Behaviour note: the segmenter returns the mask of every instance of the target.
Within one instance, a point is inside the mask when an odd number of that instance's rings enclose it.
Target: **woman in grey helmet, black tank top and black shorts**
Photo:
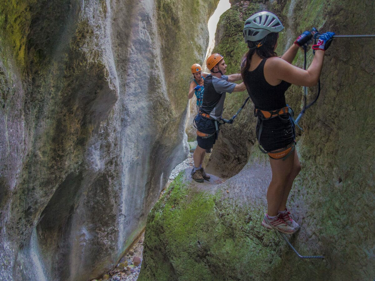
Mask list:
[[[275,52],[280,20],[270,12],[259,12],[245,21],[243,36],[249,51],[242,63],[241,74],[251,97],[257,123],[257,139],[263,152],[270,155],[272,180],[267,190],[267,214],[262,225],[284,233],[294,233],[300,226],[286,208],[293,181],[300,172],[291,110],[285,102],[285,91],[291,84],[313,86],[323,66],[324,51],[334,33],[324,33],[316,45],[314,59],[307,70],[291,64],[300,46],[312,39],[310,31],[297,37],[282,57]],[[322,40],[321,40],[322,39]]]

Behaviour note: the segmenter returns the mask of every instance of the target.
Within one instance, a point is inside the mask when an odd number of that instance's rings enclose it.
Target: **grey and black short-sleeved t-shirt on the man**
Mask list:
[[[223,114],[225,95],[226,93],[232,93],[237,84],[228,82],[228,76],[226,75],[222,75],[221,78],[211,76],[211,79],[210,76],[207,75],[204,82],[205,90],[201,110],[219,121]]]

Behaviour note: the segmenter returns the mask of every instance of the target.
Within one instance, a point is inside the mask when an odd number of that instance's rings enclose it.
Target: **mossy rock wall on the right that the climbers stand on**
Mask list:
[[[254,11],[267,9],[280,16],[285,30],[279,55],[311,27],[338,35],[374,33],[372,1],[233,2],[222,15],[214,49],[224,56],[228,73],[240,70],[246,52],[243,22]],[[325,55],[320,97],[300,122],[304,131],[297,130],[302,171],[288,206],[301,230],[289,239],[300,254],[325,259],[298,259],[277,232],[260,226],[270,168],[257,147],[250,102],[232,126],[222,127],[206,169],[230,178],[196,184],[186,170],[151,211],[139,280],[374,279],[373,45],[374,39],[333,40]],[[293,63],[303,66],[303,52]],[[308,101],[316,93],[317,87],[310,88]],[[228,94],[224,117],[231,117],[245,98],[246,93]],[[302,87],[291,87],[287,102],[298,114]]]

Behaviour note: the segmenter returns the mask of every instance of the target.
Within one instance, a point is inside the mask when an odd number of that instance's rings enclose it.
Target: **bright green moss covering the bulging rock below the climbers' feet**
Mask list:
[[[260,226],[260,214],[193,190],[182,176],[148,215],[139,280],[260,279],[270,263],[282,270],[277,234]]]

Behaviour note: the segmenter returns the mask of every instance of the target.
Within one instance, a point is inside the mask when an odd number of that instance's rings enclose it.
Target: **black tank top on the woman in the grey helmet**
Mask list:
[[[266,60],[267,58],[264,58],[253,71],[246,71],[243,80],[255,108],[272,111],[287,106],[285,91],[289,88],[290,83],[283,80],[276,86],[268,84],[264,78]]]

